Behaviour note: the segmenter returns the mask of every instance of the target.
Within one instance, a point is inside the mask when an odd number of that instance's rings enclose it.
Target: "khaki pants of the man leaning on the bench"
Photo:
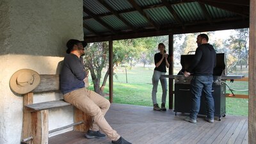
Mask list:
[[[100,129],[113,141],[120,138],[115,130],[108,124],[104,115],[107,113],[110,103],[107,99],[86,88],[80,88],[64,95],[64,100],[84,113],[92,116],[93,125],[90,128],[92,131]]]

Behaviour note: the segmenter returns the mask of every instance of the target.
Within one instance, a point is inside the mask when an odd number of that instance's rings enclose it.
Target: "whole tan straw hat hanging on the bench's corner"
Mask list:
[[[10,88],[18,94],[34,90],[40,83],[40,76],[34,70],[24,68],[15,72],[10,79]]]

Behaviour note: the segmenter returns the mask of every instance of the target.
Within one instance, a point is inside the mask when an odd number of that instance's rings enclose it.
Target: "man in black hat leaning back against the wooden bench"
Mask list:
[[[81,56],[84,56],[84,47],[86,45],[84,41],[73,39],[67,42],[67,55],[63,61],[60,79],[64,100],[92,116],[93,125],[86,132],[86,138],[102,138],[106,134],[114,144],[130,144],[113,130],[104,118],[110,106],[109,101],[98,93],[84,88],[83,80],[87,74],[84,72],[83,58]],[[100,133],[99,128],[105,134]]]

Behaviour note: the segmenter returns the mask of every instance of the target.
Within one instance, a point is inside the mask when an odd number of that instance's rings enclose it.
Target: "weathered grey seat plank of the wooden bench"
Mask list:
[[[63,100],[53,100],[49,102],[40,102],[36,104],[28,104],[26,108],[31,109],[31,111],[40,111],[44,109],[51,109],[51,108],[58,108],[63,106],[70,106],[68,102],[65,102]]]

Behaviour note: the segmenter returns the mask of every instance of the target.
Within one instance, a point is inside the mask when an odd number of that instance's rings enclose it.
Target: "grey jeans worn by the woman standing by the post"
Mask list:
[[[152,88],[152,102],[153,104],[157,104],[157,100],[156,100],[156,93],[157,93],[157,86],[158,86],[158,82],[160,79],[161,85],[162,85],[162,90],[163,90],[163,94],[162,94],[162,103],[165,104],[166,102],[166,94],[167,94],[167,81],[166,78],[161,78],[161,75],[165,74],[165,72],[159,72],[157,70],[154,70],[154,74],[152,77],[152,84],[153,84],[153,88]]]

